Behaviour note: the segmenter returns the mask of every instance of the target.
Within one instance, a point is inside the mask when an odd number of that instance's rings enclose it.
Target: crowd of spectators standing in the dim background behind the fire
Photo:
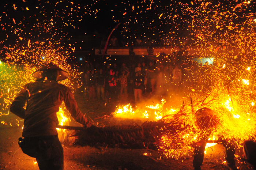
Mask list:
[[[148,97],[161,99],[211,88],[210,76],[204,75],[211,65],[196,63],[187,51],[173,52],[161,61],[155,58],[105,65],[86,62],[82,74],[85,97],[138,103]]]

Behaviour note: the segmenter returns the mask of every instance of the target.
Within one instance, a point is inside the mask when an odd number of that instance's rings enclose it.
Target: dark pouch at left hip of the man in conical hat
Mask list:
[[[37,158],[39,155],[37,144],[26,138],[19,138],[18,144],[24,154],[27,154],[33,158]]]

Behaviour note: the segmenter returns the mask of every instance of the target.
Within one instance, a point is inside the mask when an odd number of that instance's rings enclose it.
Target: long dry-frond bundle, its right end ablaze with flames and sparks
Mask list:
[[[222,94],[218,90],[209,92],[204,97],[197,98],[194,103],[191,102],[191,105],[183,104],[176,114],[163,114],[165,116],[158,121],[146,121],[140,126],[94,126],[80,129],[74,135],[75,143],[80,146],[103,144],[113,147],[151,148],[161,151],[164,157],[172,158],[186,156],[193,150],[194,143],[210,134],[216,136],[210,137],[212,139],[209,138],[208,142],[227,140],[239,147],[255,136],[255,107],[239,104],[242,97],[230,97],[225,87],[221,89]],[[200,128],[196,122],[195,113],[203,107],[211,109],[218,120],[208,129]]]

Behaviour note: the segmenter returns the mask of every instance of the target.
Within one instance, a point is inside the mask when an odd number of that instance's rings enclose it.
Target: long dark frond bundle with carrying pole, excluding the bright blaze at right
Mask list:
[[[80,146],[112,146],[124,148],[150,148],[161,150],[162,138],[170,138],[168,148],[170,150],[181,149],[186,144],[184,137],[195,129],[191,125],[185,125],[182,120],[183,113],[166,115],[158,121],[146,121],[142,125],[114,125],[105,127],[92,126],[83,128],[77,126],[58,126],[57,128],[72,129],[75,133],[75,144]],[[195,140],[194,140],[195,141]],[[207,143],[219,143],[221,141],[209,140]]]

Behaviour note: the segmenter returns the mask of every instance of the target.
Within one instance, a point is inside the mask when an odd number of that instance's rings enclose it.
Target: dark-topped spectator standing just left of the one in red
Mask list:
[[[103,69],[99,69],[99,73],[96,75],[96,88],[97,88],[97,98],[98,100],[105,99],[105,75],[103,74]]]

